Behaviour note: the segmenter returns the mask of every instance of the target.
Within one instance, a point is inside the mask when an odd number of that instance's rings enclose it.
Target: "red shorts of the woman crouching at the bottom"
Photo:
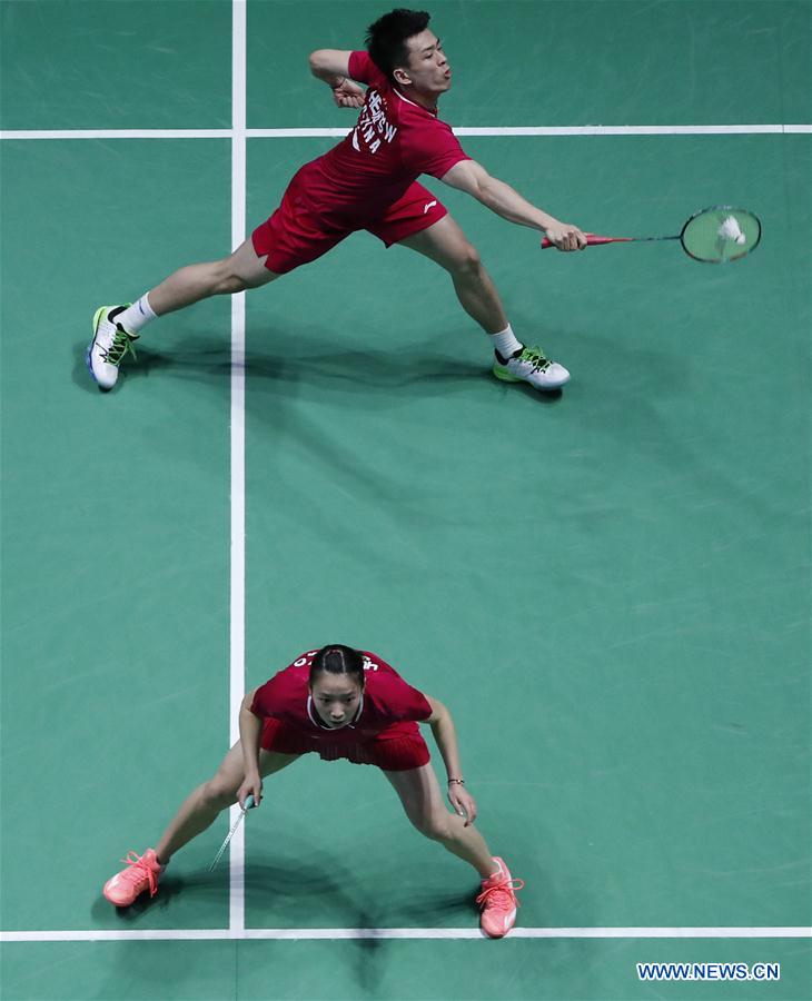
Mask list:
[[[330,743],[314,740],[281,720],[267,717],[260,744],[266,751],[277,751],[279,754],[308,754],[316,751],[323,761],[346,757],[354,764],[377,765],[385,772],[422,769],[432,756],[416,723],[394,723],[374,737],[357,743]]]

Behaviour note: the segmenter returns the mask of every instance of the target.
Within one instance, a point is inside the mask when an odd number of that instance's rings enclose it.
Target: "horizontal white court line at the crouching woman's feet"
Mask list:
[[[810,939],[812,928],[514,928],[509,939]],[[0,932],[0,942],[478,939],[478,928],[244,928]]]

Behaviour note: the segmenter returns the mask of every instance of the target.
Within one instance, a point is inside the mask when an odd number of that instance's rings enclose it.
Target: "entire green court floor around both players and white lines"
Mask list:
[[[811,120],[809,3],[432,10],[456,125]],[[306,56],[380,11],[251,0],[248,126],[350,123]],[[3,129],[230,123],[228,2],[0,14]],[[552,399],[493,380],[447,277],[367,235],[250,294],[247,684],[338,640],[449,704],[524,926],[808,925],[810,136],[463,142],[584,228],[665,234],[729,201],[762,246],[724,268],[670,244],[539,256],[429,181],[518,336],[572,369]],[[248,141],[249,227],[329,145]],[[0,156],[0,924],[227,928],[225,819],[151,905],[99,890],[228,742],[229,304],[150,327],[109,396],[83,348],[100,303],[228,249],[230,141]],[[248,928],[475,926],[475,881],[374,770],[306,760],[267,792]],[[782,979],[637,981],[672,960]],[[801,1001],[811,962],[809,939],[3,943],[0,994]]]

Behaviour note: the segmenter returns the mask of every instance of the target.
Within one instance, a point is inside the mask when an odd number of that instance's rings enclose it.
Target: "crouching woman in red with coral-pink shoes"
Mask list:
[[[427,723],[448,773],[449,812],[429,764],[417,723]],[[448,710],[408,685],[376,654],[331,645],[303,654],[242,700],[239,741],[214,777],[184,802],[155,849],[129,852],[127,868],[108,880],[105,896],[128,906],[158,892],[172,855],[214,823],[220,811],[248,795],[258,805],[263,776],[316,751],[325,761],[347,759],[380,769],[417,830],[472,865],[482,880],[476,898],[483,931],[502,938],[516,920],[514,880],[504,861],[491,854],[474,826],[476,803],[465,787],[457,737]],[[303,865],[307,860],[303,859]]]

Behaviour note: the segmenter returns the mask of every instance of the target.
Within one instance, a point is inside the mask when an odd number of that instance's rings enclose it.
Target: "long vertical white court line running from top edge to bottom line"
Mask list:
[[[246,0],[231,4],[231,247],[246,237]],[[229,746],[239,740],[239,707],[245,695],[245,293],[231,296],[231,559]],[[229,827],[239,816],[231,806]],[[245,928],[245,824],[229,845],[228,924]]]

